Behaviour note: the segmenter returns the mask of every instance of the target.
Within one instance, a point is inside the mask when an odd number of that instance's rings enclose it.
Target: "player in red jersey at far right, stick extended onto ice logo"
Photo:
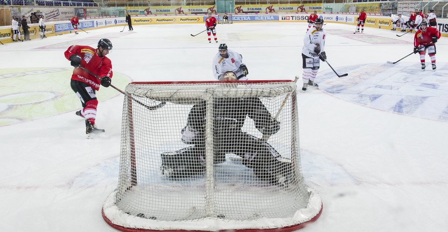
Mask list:
[[[414,53],[420,53],[421,69],[425,69],[426,49],[430,55],[433,70],[436,69],[436,45],[440,38],[440,32],[433,27],[428,27],[426,21],[420,24],[420,29],[415,32],[414,36]]]

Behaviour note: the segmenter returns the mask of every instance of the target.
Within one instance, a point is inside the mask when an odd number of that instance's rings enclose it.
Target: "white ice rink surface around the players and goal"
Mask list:
[[[109,38],[112,84],[213,80],[220,43],[243,55],[250,80],[302,75],[307,24],[134,25],[0,46],[0,231],[116,231],[101,208],[118,180],[123,95],[102,87],[98,127],[86,139],[70,89],[70,45]],[[328,23],[316,83],[299,93],[302,167],[323,201],[300,231],[445,231],[448,228],[448,38],[437,70],[421,71],[414,34]],[[302,83],[299,80],[298,86]],[[260,202],[262,204],[262,202]]]

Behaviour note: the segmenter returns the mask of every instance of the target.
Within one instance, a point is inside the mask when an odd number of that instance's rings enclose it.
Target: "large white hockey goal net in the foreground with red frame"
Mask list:
[[[296,91],[293,81],[129,84],[104,220],[122,231],[292,231],[315,221],[322,201],[302,176]]]

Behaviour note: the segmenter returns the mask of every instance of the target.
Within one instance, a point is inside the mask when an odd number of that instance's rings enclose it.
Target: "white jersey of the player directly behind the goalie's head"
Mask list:
[[[243,75],[243,71],[240,68],[240,66],[244,64],[243,56],[240,53],[231,50],[227,50],[227,54],[229,55],[227,58],[222,57],[219,52],[213,57],[213,76],[215,76],[217,80],[220,79],[220,75],[223,75],[227,71],[235,72],[237,76]],[[245,81],[247,78],[243,76],[239,80]]]

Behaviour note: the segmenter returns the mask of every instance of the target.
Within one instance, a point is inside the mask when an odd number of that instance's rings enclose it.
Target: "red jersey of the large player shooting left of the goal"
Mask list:
[[[108,57],[100,57],[96,54],[96,50],[89,46],[73,45],[64,52],[67,60],[70,60],[71,55],[81,56],[81,66],[96,74],[100,78],[109,76],[112,78],[112,63]],[[90,75],[81,68],[73,69],[71,80],[87,83],[94,90],[99,90],[101,81],[95,76]]]

